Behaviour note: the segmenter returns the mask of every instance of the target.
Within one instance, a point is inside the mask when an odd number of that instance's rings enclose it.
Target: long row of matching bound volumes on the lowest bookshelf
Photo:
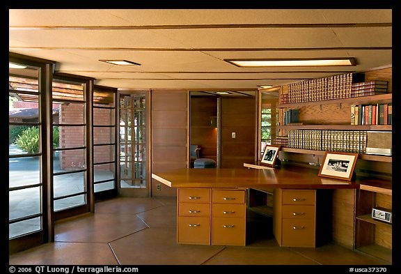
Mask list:
[[[366,153],[366,130],[288,130],[288,147]]]

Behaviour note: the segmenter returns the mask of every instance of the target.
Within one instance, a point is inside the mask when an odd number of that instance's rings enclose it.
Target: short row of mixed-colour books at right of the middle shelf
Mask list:
[[[393,105],[351,105],[351,125],[392,125]]]

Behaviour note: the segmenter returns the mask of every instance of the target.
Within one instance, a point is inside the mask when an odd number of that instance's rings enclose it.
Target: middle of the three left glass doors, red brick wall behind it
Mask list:
[[[91,211],[90,82],[55,75],[52,84],[53,207],[56,220]]]

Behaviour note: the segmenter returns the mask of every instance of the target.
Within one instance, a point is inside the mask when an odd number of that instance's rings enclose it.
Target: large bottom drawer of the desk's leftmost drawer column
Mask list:
[[[210,245],[209,217],[178,217],[178,243]]]

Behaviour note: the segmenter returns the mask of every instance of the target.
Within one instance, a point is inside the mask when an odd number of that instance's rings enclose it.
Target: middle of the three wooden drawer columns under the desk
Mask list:
[[[212,245],[246,245],[245,190],[212,190]]]

